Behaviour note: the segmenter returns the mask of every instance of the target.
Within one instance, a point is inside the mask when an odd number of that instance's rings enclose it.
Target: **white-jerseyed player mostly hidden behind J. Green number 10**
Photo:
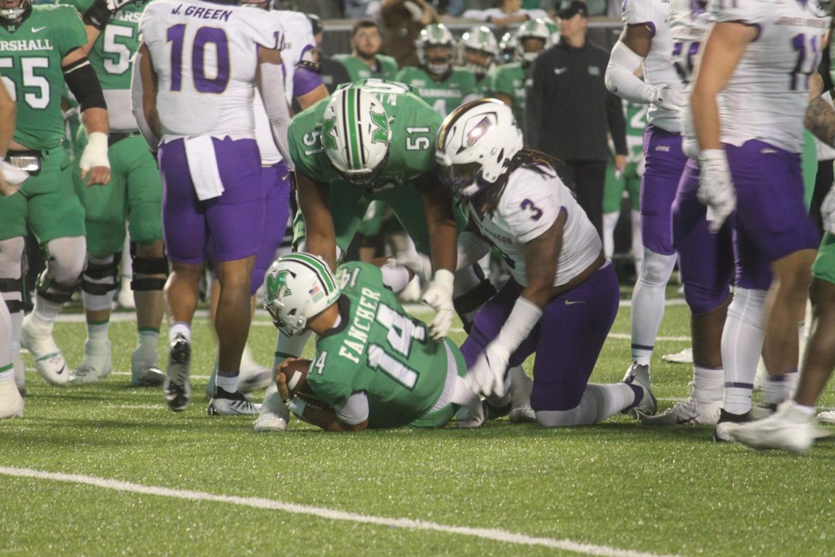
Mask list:
[[[266,8],[266,4],[257,4]],[[327,97],[327,89],[322,83],[318,64],[313,61],[313,48],[316,40],[313,38],[313,28],[304,13],[283,10],[267,10],[262,17],[270,18],[276,29],[284,33],[285,48],[281,51],[281,60],[285,70],[285,94],[287,102],[292,103],[295,98],[306,109],[321,99]],[[276,147],[272,137],[270,119],[266,114],[261,95],[256,92],[256,141],[261,152],[261,178],[264,180],[265,215],[264,231],[261,233],[261,246],[256,256],[256,264],[252,270],[250,286],[251,304],[255,309],[256,291],[264,283],[266,269],[276,256],[276,250],[287,228],[290,216],[290,173]],[[217,281],[212,282],[212,318],[217,307]],[[211,397],[215,390],[215,376],[217,370],[206,383],[206,396]],[[251,356],[249,347],[245,347],[240,362],[240,390],[253,391],[266,387],[273,377],[271,369],[259,367]]]

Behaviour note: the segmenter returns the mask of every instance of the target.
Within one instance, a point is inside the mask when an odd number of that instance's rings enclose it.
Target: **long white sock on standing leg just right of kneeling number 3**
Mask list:
[[[652,347],[664,317],[667,281],[676,265],[676,256],[662,256],[644,249],[644,262],[632,293],[632,360],[650,365]]]

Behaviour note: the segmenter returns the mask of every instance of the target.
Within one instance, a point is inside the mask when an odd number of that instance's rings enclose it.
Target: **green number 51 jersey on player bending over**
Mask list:
[[[375,94],[391,120],[392,144],[386,168],[371,190],[390,189],[414,180],[437,167],[435,138],[441,116],[402,84],[377,83],[361,86]],[[321,184],[348,185],[321,149],[321,122],[330,99],[322,99],[293,118],[287,132],[290,155],[296,170]]]

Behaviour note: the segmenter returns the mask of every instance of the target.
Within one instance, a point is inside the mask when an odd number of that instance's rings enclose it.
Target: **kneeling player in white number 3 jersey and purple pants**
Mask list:
[[[470,231],[459,238],[458,266],[492,244],[512,274],[478,312],[461,347],[465,381],[484,395],[501,394],[507,368],[536,352],[530,403],[540,424],[655,413],[655,397],[640,375],[613,385],[588,382],[620,293],[600,236],[559,180],[556,161],[523,147],[512,110],[495,99],[449,114],[437,148],[444,184],[471,214]]]

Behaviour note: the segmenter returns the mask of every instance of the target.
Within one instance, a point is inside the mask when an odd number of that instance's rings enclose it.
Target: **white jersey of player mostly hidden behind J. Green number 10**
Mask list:
[[[262,15],[270,18],[277,31],[284,37],[284,48],[281,50],[281,66],[284,68],[284,91],[287,95],[287,104],[293,102],[293,75],[296,73],[296,64],[302,60],[312,61],[312,51],[316,45],[313,38],[313,27],[304,13],[269,11]],[[270,119],[267,118],[264,101],[256,91],[256,104],[254,107],[256,117],[256,140],[258,150],[261,151],[261,165],[271,166],[281,162],[281,153],[278,152],[276,142],[272,139]]]

